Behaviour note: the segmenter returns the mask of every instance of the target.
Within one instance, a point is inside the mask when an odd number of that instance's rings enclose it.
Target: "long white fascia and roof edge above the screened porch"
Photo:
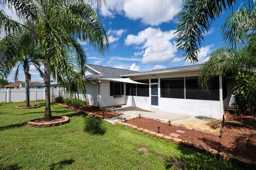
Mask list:
[[[132,73],[132,74],[122,74],[121,77],[132,77],[132,76],[136,76],[136,75],[164,74],[164,73],[169,73],[169,72],[199,70],[201,68],[201,65],[202,64],[195,64],[195,65],[188,65],[188,66],[172,67],[172,68],[167,68],[167,69],[137,72],[137,73]]]

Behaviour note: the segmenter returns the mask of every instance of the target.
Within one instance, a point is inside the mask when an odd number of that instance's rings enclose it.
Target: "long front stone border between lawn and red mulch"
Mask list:
[[[143,117],[141,117],[141,118],[143,118]],[[246,166],[252,166],[252,167],[256,166],[256,162],[253,162],[253,160],[251,160],[251,159],[244,158],[241,156],[234,156],[234,155],[228,154],[226,152],[218,152],[218,150],[215,150],[212,148],[204,147],[202,145],[197,145],[196,143],[182,140],[179,138],[173,138],[169,135],[164,135],[162,133],[157,133],[157,132],[150,131],[147,129],[139,128],[138,126],[124,123],[123,121],[117,121],[117,122],[115,122],[115,125],[124,125],[129,129],[137,130],[138,132],[142,132],[143,134],[149,135],[151,137],[154,137],[157,139],[163,139],[167,142],[176,143],[177,145],[181,145],[183,147],[193,148],[194,150],[201,152],[203,154],[207,154],[207,155],[210,155],[213,157],[221,157],[223,160],[236,161],[237,163],[239,163],[241,165],[246,165]]]

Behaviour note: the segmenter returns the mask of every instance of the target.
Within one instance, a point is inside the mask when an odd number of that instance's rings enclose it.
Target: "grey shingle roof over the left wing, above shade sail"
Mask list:
[[[86,75],[86,79],[97,79],[97,78],[122,78],[120,75],[138,73],[137,71],[116,69],[112,67],[100,66],[88,64],[92,69],[97,70],[101,74]]]

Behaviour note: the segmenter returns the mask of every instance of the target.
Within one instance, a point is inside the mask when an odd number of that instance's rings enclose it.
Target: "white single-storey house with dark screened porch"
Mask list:
[[[199,88],[201,65],[135,72],[88,64],[85,85],[89,104],[99,107],[133,105],[171,113],[221,118],[233,98],[231,78],[217,76],[210,94]],[[82,97],[82,95],[81,95]]]

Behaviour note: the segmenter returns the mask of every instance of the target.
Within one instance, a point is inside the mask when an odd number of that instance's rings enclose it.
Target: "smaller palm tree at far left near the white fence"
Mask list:
[[[26,25],[29,25],[26,23]],[[23,71],[25,74],[25,88],[26,88],[26,107],[29,107],[29,81],[31,79],[31,74],[29,74],[29,67],[34,65],[36,70],[43,77],[43,72],[40,70],[41,62],[40,50],[35,47],[34,41],[27,41],[29,34],[27,34],[27,29],[23,29],[18,36],[6,36],[0,40],[0,58],[1,65],[0,69],[2,73],[9,74],[16,64],[18,64],[15,70],[14,80],[18,81],[18,73],[20,65],[23,66]],[[12,56],[11,58],[9,56]],[[8,60],[3,63],[4,58]]]

